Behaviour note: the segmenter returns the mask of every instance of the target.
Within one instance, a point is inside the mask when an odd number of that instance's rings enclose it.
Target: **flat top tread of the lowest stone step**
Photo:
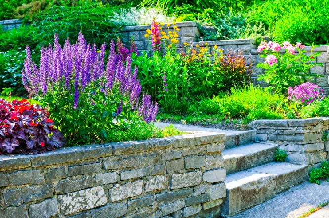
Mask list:
[[[288,162],[270,162],[268,164],[227,175],[225,179],[226,189],[237,188],[249,182],[268,177],[277,177],[303,169],[307,169],[307,166],[291,164]]]

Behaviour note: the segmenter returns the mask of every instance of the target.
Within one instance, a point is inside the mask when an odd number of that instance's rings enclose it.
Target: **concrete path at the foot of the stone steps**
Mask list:
[[[321,185],[303,182],[230,218],[298,218],[326,201],[329,201],[329,182],[322,181]],[[329,218],[329,207],[324,207],[307,218]]]

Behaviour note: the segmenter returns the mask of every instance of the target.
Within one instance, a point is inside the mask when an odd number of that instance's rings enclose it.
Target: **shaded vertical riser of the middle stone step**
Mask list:
[[[277,147],[259,151],[255,154],[250,154],[238,158],[224,159],[226,174],[232,174],[238,171],[247,170],[252,167],[267,164],[272,162],[274,153]]]

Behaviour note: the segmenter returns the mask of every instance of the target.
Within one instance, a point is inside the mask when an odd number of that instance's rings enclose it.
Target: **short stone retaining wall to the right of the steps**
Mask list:
[[[286,161],[309,167],[329,160],[329,118],[256,120],[256,141],[273,142],[286,151]]]

